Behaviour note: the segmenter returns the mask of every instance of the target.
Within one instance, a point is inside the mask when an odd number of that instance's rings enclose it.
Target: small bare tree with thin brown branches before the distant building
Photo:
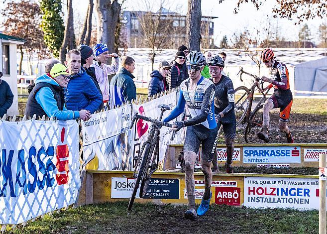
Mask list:
[[[163,4],[161,1],[158,12],[152,13],[150,7],[148,10],[138,16],[138,22],[141,28],[140,36],[142,37],[143,46],[151,48],[149,54],[152,70],[154,59],[163,48],[170,47],[173,42],[171,40],[170,29],[173,24],[173,15],[163,12]]]

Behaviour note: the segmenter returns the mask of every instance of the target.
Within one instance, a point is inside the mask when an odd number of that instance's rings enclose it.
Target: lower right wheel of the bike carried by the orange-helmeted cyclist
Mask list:
[[[257,138],[258,131],[262,128],[262,111],[261,105],[255,112],[251,113],[250,121],[245,128],[245,141],[246,143],[253,143]]]

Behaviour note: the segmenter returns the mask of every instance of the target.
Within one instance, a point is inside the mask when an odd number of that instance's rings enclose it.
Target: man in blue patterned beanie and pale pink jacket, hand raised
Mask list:
[[[109,54],[107,44],[104,43],[96,44],[93,51],[95,54],[95,61],[93,61],[91,67],[95,68],[95,74],[103,95],[103,101],[107,103],[110,99],[108,76],[118,71],[119,58],[115,53]],[[112,65],[106,64],[109,57],[114,58],[112,60]]]

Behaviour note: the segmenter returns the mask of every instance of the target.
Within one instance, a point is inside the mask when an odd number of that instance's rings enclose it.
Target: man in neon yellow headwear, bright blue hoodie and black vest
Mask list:
[[[61,63],[53,65],[50,73],[35,81],[35,87],[28,96],[25,116],[55,117],[59,120],[81,118],[88,120],[91,113],[86,110],[69,111],[64,105],[64,88],[67,88],[69,73]]]

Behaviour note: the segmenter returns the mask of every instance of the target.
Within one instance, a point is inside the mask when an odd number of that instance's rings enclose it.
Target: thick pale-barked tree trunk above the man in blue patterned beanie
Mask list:
[[[109,53],[114,51],[114,32],[116,29],[121,5],[117,0],[96,0],[98,42],[106,43]]]

